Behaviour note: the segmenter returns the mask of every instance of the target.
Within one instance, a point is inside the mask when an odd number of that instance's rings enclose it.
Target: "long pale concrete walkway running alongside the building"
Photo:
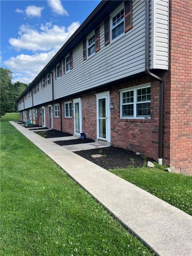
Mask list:
[[[192,255],[192,217],[26,128],[10,122],[157,255]]]

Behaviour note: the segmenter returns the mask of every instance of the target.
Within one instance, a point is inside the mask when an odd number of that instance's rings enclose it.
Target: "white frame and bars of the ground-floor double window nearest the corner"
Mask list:
[[[148,83],[148,84],[142,84],[142,85],[139,85],[139,86],[134,86],[134,87],[129,87],[129,88],[126,88],[126,89],[121,89],[119,90],[120,91],[120,118],[121,119],[151,119],[151,117],[144,117],[144,116],[140,116],[138,117],[137,116],[137,104],[139,103],[149,103],[151,101],[141,101],[141,102],[137,102],[137,90],[138,89],[142,89],[142,88],[147,88],[147,87],[151,87],[151,84]],[[122,95],[123,95],[123,92],[128,92],[128,91],[133,91],[134,90],[134,101],[133,101],[133,116],[130,116],[130,117],[124,117],[122,116]],[[125,104],[126,105],[126,104]]]

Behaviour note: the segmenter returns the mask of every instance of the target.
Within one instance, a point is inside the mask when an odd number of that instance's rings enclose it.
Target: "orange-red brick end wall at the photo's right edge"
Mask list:
[[[170,166],[192,174],[192,1],[170,1]]]

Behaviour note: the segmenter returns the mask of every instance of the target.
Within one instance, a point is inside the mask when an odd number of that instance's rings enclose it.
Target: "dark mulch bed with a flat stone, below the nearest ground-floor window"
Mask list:
[[[101,153],[99,151],[102,151]],[[75,151],[79,156],[101,166],[102,168],[109,170],[115,168],[126,168],[127,166],[141,167],[144,164],[144,159],[139,155],[137,156],[134,152],[119,148],[119,147],[106,147],[89,149],[82,151]],[[92,158],[91,155],[106,155],[106,157]]]

